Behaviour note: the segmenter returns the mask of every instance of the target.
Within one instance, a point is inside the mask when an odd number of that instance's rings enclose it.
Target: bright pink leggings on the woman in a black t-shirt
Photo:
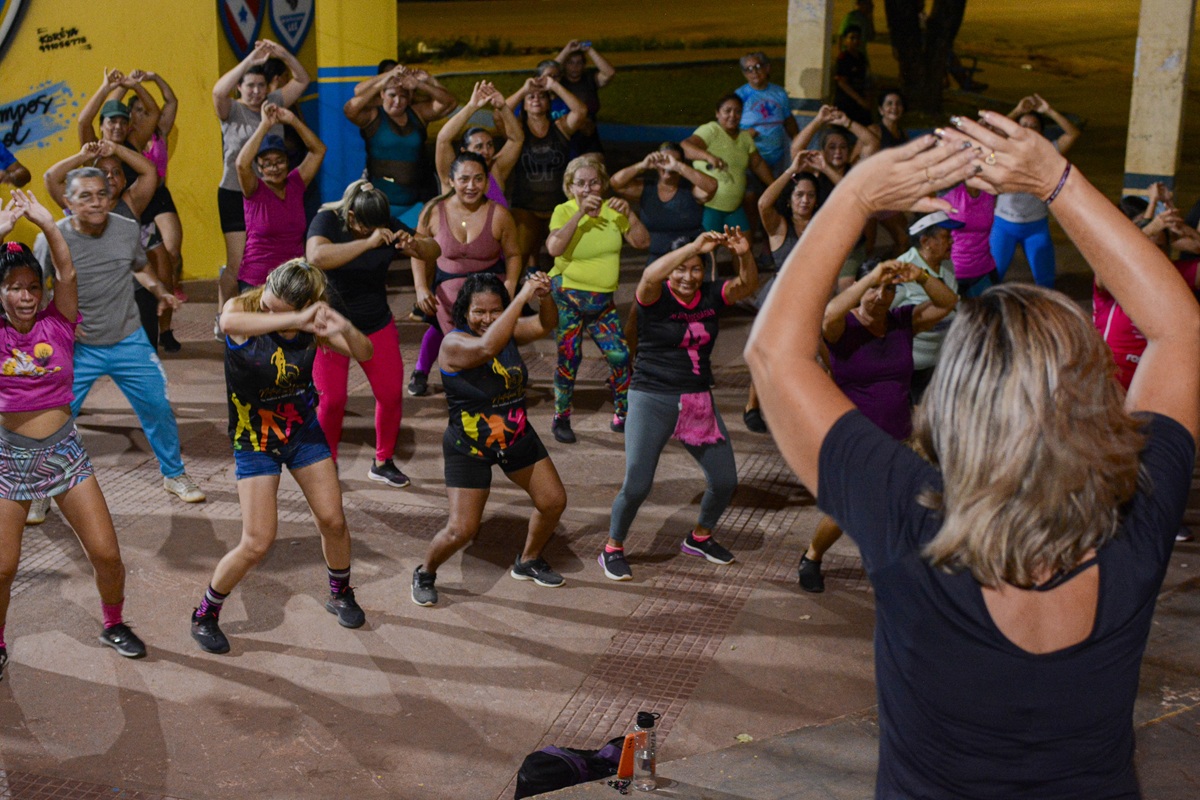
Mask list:
[[[367,336],[374,345],[370,361],[360,361],[362,372],[376,396],[376,461],[384,462],[396,452],[400,420],[403,414],[404,359],[400,355],[400,331],[389,321],[382,330]],[[342,440],[342,419],[346,416],[347,383],[350,359],[328,348],[317,349],[312,366],[312,381],[320,392],[317,421],[325,432],[329,450],[337,461],[337,443]]]

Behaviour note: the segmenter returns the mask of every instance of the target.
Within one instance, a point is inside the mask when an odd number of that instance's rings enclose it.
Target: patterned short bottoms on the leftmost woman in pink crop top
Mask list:
[[[91,462],[74,420],[68,420],[44,439],[30,439],[0,428],[0,498],[52,498],[91,476]]]

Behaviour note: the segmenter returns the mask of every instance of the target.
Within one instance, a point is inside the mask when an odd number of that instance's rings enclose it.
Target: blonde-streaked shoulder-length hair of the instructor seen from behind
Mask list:
[[[943,515],[924,549],[935,567],[1028,588],[1116,534],[1144,437],[1114,372],[1056,291],[1000,285],[959,303],[913,420],[944,486],[918,499]]]

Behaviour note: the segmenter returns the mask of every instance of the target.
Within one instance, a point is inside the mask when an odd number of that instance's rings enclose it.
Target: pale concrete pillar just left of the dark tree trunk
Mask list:
[[[787,0],[787,68],[792,108],[816,112],[833,74],[833,0]]]

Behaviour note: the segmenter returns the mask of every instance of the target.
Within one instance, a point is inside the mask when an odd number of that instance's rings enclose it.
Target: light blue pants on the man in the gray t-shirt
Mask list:
[[[71,386],[76,396],[71,402],[72,415],[79,416],[79,409],[96,379],[108,375],[138,415],[163,476],[178,477],[184,474],[179,427],[167,398],[167,373],[144,330],[139,327],[116,344],[77,342],[74,371],[74,383]]]

